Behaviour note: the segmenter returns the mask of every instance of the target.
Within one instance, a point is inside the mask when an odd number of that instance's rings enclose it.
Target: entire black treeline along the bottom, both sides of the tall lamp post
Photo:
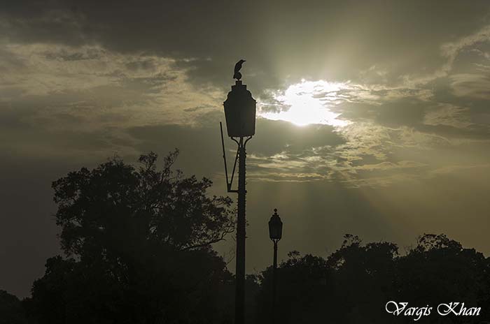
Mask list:
[[[235,228],[230,198],[209,179],[172,170],[178,152],[111,159],[53,182],[64,256],[46,261],[31,297],[0,291],[0,324],[232,323],[235,286],[212,244]],[[345,235],[327,258],[289,253],[277,271],[276,323],[414,323],[388,301],[426,307],[465,302],[479,316],[417,323],[489,321],[490,259],[445,235],[423,235],[400,255],[389,242]],[[246,322],[272,321],[272,269],[246,280]]]

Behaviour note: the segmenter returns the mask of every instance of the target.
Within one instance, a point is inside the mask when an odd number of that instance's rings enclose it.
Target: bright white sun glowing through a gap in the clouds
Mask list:
[[[289,121],[297,126],[346,126],[350,122],[337,119],[340,114],[329,109],[339,101],[337,93],[345,87],[343,83],[301,80],[300,83],[291,84],[282,94],[274,94],[281,109],[279,112],[262,111],[259,115],[266,119]],[[267,103],[262,103],[262,106],[265,105]]]

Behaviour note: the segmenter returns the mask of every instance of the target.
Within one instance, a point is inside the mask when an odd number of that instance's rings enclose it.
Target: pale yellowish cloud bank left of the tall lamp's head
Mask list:
[[[214,107],[216,98],[223,96],[217,89],[193,87],[186,82],[186,71],[165,57],[43,44],[6,45],[0,54],[22,62],[4,67],[3,102],[36,105],[45,115],[59,110],[92,115],[92,124],[106,114],[129,117],[133,124],[154,122],[159,115],[162,122],[193,123],[190,117],[195,114],[182,114],[182,106]]]

